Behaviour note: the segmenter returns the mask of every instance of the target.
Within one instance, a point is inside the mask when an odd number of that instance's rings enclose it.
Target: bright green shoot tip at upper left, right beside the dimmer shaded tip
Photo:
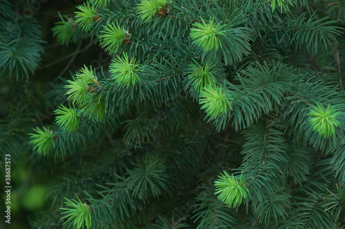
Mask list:
[[[77,19],[75,22],[79,24],[81,30],[90,30],[92,23],[99,19],[97,10],[94,6],[90,6],[89,3],[84,3],[83,6],[77,6],[77,9],[81,12],[75,12],[75,17]]]

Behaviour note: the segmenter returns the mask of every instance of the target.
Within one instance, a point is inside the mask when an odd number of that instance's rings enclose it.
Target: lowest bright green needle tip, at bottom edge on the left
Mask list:
[[[70,226],[73,224],[73,228],[79,229],[83,228],[85,224],[86,228],[90,229],[92,223],[90,207],[86,203],[81,203],[77,194],[76,197],[79,202],[73,199],[72,201],[75,203],[64,197],[64,199],[66,199],[66,202],[64,203],[70,208],[59,208],[60,210],[66,210],[66,212],[61,212],[61,214],[67,214],[64,217],[61,217],[61,219],[68,218],[68,220],[63,224],[71,221],[68,228],[70,228]]]

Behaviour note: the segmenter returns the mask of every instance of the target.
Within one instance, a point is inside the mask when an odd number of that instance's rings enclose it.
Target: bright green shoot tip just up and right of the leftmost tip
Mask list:
[[[61,104],[60,108],[54,111],[57,117],[55,121],[64,132],[72,132],[79,128],[80,117],[78,112],[72,108],[66,108]]]

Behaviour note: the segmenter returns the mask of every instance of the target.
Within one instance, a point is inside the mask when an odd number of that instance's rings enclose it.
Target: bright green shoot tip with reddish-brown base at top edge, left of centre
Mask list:
[[[138,14],[144,23],[150,21],[155,14],[165,14],[168,0],[142,0],[138,7]]]

